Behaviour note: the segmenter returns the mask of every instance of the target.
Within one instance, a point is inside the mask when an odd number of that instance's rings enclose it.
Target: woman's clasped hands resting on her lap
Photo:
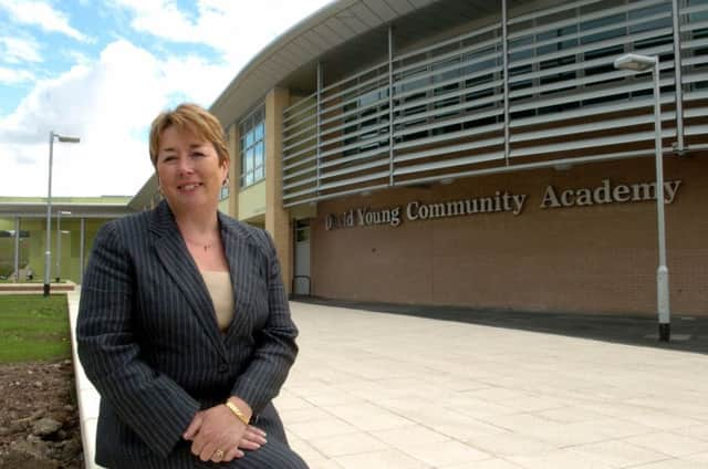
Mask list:
[[[242,449],[256,450],[267,442],[263,430],[246,426],[225,405],[198,411],[183,436],[192,442],[195,456],[214,462],[242,458]]]

